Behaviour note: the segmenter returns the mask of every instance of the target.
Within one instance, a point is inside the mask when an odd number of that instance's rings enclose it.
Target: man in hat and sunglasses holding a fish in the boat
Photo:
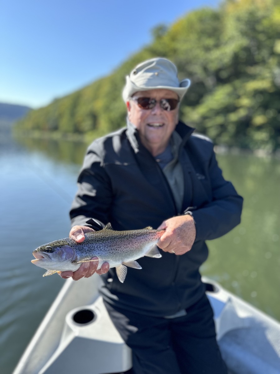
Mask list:
[[[142,269],[129,268],[124,283],[107,263],[61,273],[75,280],[103,274],[100,293],[133,351],[136,374],[227,372],[199,267],[205,240],[239,224],[242,197],[224,180],[212,143],[178,121],[189,85],[167,59],[136,66],[123,91],[127,128],[90,145],[70,213],[77,242],[108,222],[115,230],[165,229],[162,257],[140,258]]]

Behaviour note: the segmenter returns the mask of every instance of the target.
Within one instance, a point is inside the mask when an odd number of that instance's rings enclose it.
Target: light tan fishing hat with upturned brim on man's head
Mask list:
[[[127,102],[135,92],[163,88],[176,92],[181,100],[189,86],[189,79],[179,82],[177,68],[171,61],[156,57],[141,62],[126,76],[122,98]]]

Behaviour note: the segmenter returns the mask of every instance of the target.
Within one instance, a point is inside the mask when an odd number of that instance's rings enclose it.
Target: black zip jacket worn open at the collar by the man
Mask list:
[[[111,304],[148,315],[172,315],[194,304],[203,292],[199,267],[208,256],[205,240],[215,239],[240,223],[243,199],[225,181],[213,144],[192,135],[179,122],[183,139],[178,158],[184,173],[184,201],[177,211],[169,184],[152,154],[132,127],[95,140],[88,148],[70,212],[72,225],[100,230],[157,228],[167,218],[193,207],[196,240],[184,255],[161,251],[161,258],[142,257],[141,270],[128,268],[124,283],[115,269],[102,276],[101,293]]]

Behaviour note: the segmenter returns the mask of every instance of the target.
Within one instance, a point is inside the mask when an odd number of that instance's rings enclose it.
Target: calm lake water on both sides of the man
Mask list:
[[[37,246],[68,236],[85,145],[0,141],[0,373],[10,374],[63,285],[31,264]],[[209,242],[202,274],[280,320],[280,161],[218,155],[245,197],[242,223]]]

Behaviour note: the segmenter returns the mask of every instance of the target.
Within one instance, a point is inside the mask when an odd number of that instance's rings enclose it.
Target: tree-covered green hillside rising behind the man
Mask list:
[[[87,140],[125,125],[125,75],[154,56],[171,59],[192,86],[181,119],[217,144],[280,147],[280,0],[227,0],[188,13],[91,85],[28,113],[16,131],[84,134]],[[113,58],[113,56],[112,56]]]

